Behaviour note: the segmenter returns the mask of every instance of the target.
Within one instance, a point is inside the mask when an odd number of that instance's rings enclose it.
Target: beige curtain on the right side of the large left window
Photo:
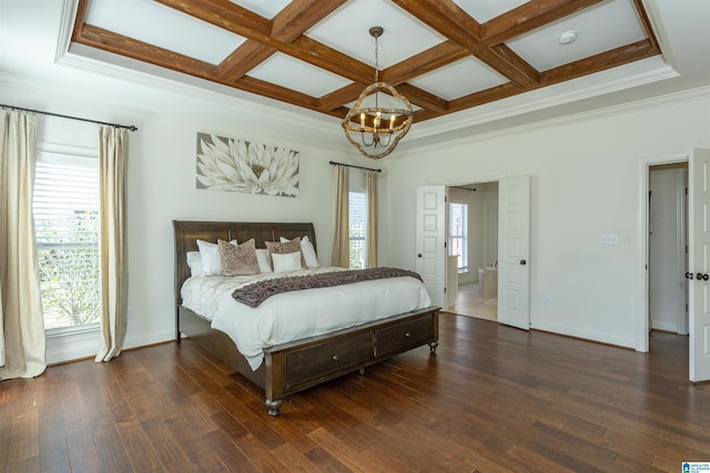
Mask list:
[[[121,354],[128,323],[126,175],[129,134],[122,127],[99,126],[101,192],[101,348],[95,361]]]

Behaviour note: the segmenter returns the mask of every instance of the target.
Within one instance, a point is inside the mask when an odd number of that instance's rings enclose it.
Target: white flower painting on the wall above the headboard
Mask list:
[[[197,188],[298,196],[298,152],[197,133]]]

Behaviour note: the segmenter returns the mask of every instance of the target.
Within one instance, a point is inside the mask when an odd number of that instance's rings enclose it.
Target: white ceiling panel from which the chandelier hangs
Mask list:
[[[444,41],[443,37],[387,0],[346,2],[306,31],[306,35],[374,66],[372,27],[385,30],[379,37],[379,70]]]

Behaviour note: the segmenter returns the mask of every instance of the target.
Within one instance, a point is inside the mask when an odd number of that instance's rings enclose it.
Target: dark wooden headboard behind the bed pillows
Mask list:
[[[274,222],[185,222],[173,220],[175,234],[175,304],[180,306],[180,288],[190,277],[187,251],[197,251],[197,239],[216,243],[217,239],[244,243],[254,238],[257,248],[266,248],[264,241],[278,241],[281,237],[295,238],[307,236],[315,244],[315,229],[312,223],[284,224]]]

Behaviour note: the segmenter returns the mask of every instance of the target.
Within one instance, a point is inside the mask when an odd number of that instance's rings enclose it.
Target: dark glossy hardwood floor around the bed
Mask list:
[[[680,472],[710,461],[686,337],[649,353],[443,313],[423,347],[282,415],[189,340],[0,383],[10,472]]]

